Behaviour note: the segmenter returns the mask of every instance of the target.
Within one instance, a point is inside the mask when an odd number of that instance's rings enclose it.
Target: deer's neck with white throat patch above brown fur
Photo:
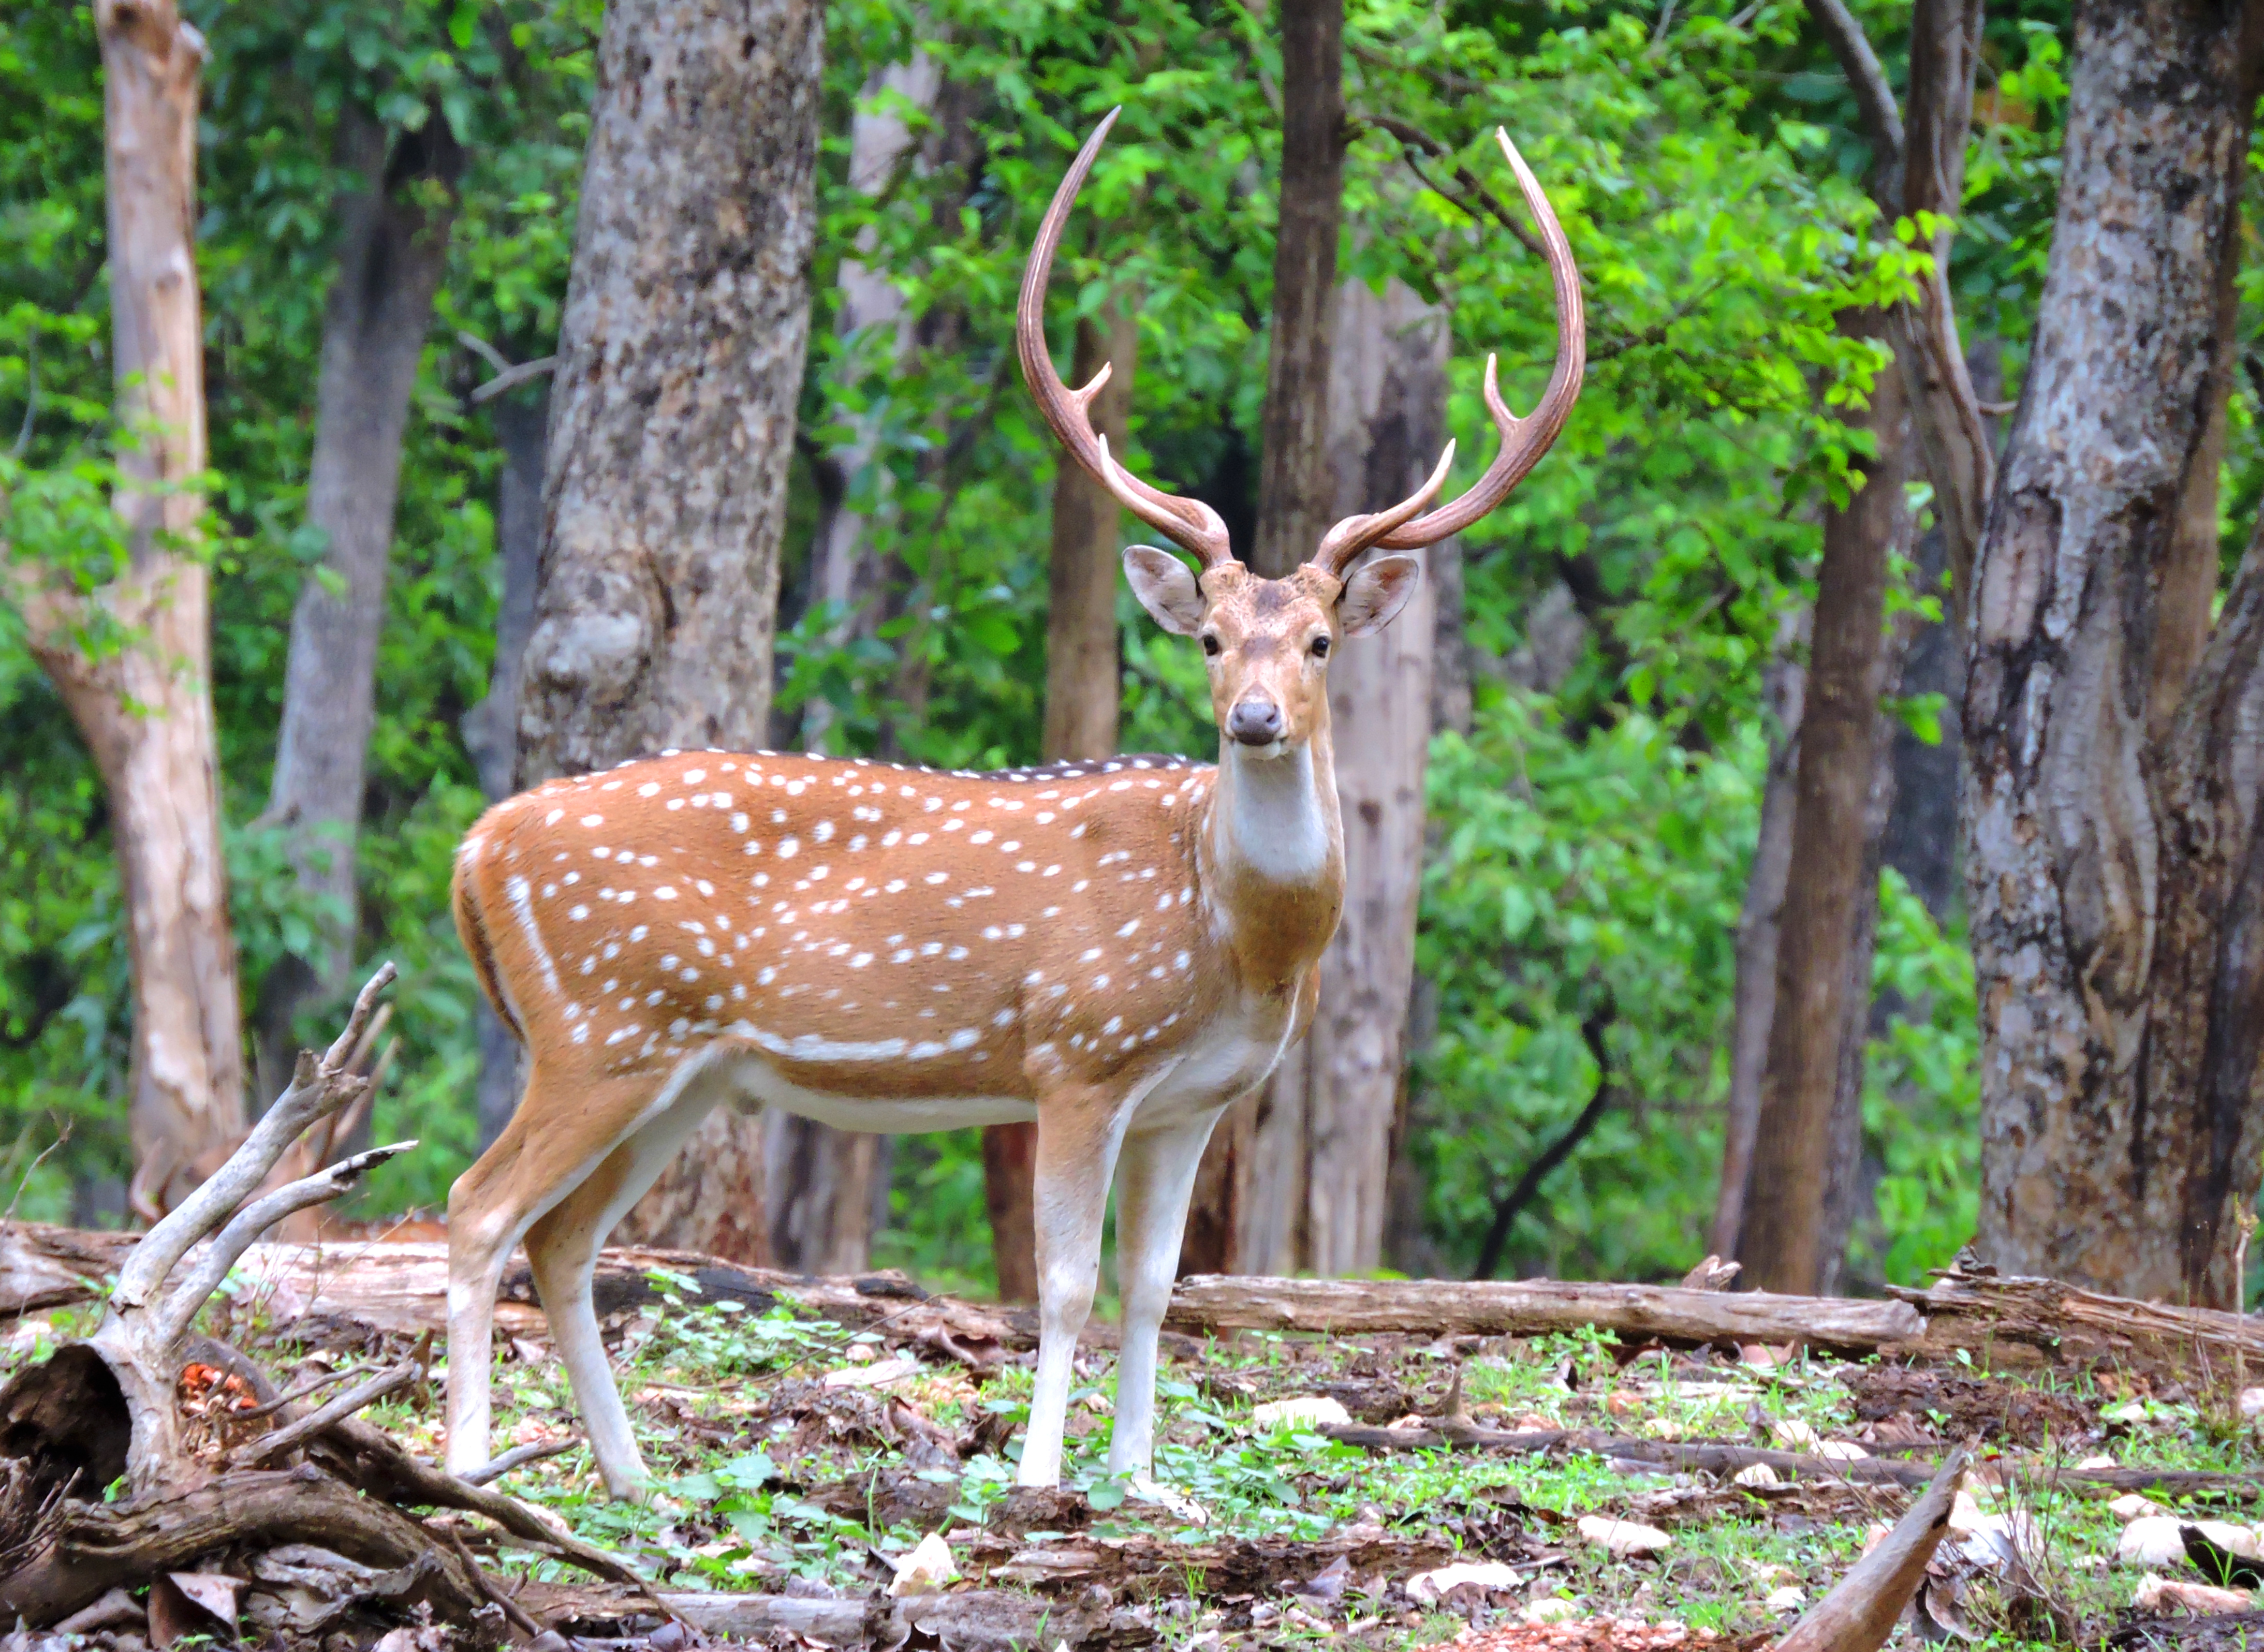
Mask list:
[[[1279,758],[1223,740],[1202,846],[1211,921],[1243,980],[1295,991],[1345,905],[1345,824],[1327,724]]]

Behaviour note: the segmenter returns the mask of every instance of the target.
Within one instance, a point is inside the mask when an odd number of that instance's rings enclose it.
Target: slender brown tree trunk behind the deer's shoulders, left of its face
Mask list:
[[[1071,380],[1089,385],[1114,367],[1091,405],[1094,430],[1109,453],[1132,437],[1132,378],[1139,369],[1139,308],[1130,294],[1078,321]],[[1053,557],[1046,602],[1046,763],[1116,754],[1116,552],[1123,507],[1073,464],[1053,475]],[[983,1204],[992,1220],[992,1258],[1001,1301],[1037,1301],[1037,1125],[989,1125],[983,1132]]]

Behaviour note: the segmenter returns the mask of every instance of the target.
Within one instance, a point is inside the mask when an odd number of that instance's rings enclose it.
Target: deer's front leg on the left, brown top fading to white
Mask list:
[[[1019,1485],[1062,1480],[1071,1365],[1100,1283],[1100,1218],[1127,1113],[1094,1091],[1055,1095],[1037,1113],[1037,1380]]]

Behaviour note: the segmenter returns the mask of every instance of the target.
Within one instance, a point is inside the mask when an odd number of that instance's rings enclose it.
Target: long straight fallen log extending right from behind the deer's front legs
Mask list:
[[[1773,1297],[1682,1285],[1555,1279],[1252,1279],[1195,1274],[1170,1294],[1173,1331],[1537,1335],[1598,1326],[1666,1342],[1807,1342],[1870,1351],[1915,1342],[1927,1322],[1902,1301]]]

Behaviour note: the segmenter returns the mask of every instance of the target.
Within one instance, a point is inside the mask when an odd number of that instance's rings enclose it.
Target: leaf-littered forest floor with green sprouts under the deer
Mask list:
[[[1780,1636],[1913,1496],[1832,1475],[1662,1473],[1592,1453],[1377,1451],[1320,1432],[1322,1414],[1406,1426],[1453,1412],[1456,1399],[1472,1421],[1506,1430],[1605,1428],[1841,1460],[1931,1462],[1976,1444],[1970,1496],[1897,1643],[2176,1645],[2201,1625],[2146,1618],[2133,1598],[2146,1577],[2198,1584],[2203,1573],[2180,1552],[2176,1521],[2226,1521],[2210,1528],[2216,1539],[2257,1552],[2257,1509],[2244,1503],[2053,1482],[2103,1462],[2264,1471],[2235,1385],[1628,1349],[1603,1333],[1166,1337],[1166,1491],[1139,1496],[1103,1471],[1105,1346],[1080,1358],[1064,1489],[1017,1491],[1028,1356],[967,1365],[890,1346],[878,1331],[675,1292],[614,1315],[609,1335],[657,1494],[607,1503],[580,1444],[512,1471],[503,1489],[666,1591],[869,1600],[940,1534],[955,1573],[940,1586],[1030,1591],[1087,1620],[1098,1611],[1109,1629],[1087,1645],[1746,1647]],[[36,1346],[18,1335],[16,1358]],[[496,1367],[496,1448],[571,1442],[564,1369],[543,1342],[509,1349]],[[272,1351],[281,1367],[371,1346]],[[1306,1403],[1284,1417],[1268,1410],[1279,1401]],[[369,1417],[412,1451],[441,1446],[430,1399]],[[498,1550],[484,1528],[462,1534],[496,1571],[528,1580],[530,1602],[543,1584],[573,1584],[555,1561]],[[2230,1627],[2255,1627],[2264,1643],[2264,1618],[2214,1623]]]

